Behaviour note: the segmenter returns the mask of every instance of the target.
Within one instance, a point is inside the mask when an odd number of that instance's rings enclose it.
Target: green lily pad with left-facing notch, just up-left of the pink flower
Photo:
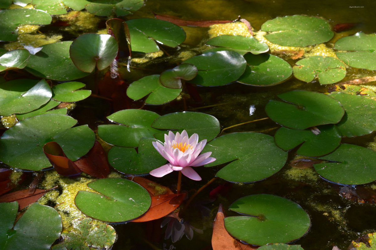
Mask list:
[[[103,141],[120,147],[138,147],[143,137],[154,138],[161,130],[152,128],[153,121],[160,117],[155,112],[143,109],[125,109],[109,115],[110,121],[118,125],[98,126],[98,135]]]

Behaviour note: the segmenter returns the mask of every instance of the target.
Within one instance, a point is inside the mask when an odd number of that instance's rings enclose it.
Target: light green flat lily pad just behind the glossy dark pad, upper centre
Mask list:
[[[221,47],[218,49],[222,50],[233,50],[241,55],[244,55],[248,52],[258,55],[269,50],[269,47],[266,43],[259,42],[255,39],[255,37],[222,35],[208,40],[206,44]]]

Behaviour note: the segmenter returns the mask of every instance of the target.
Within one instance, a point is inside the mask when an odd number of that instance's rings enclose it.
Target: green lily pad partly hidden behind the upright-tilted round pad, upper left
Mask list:
[[[69,48],[71,41],[43,45],[36,55],[30,55],[26,70],[35,76],[56,81],[71,81],[89,75],[74,66]]]

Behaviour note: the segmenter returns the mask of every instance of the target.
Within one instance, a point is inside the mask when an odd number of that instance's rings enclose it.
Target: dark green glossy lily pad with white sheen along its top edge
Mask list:
[[[236,81],[246,70],[246,59],[235,51],[206,52],[185,60],[199,70],[190,83],[222,86]]]

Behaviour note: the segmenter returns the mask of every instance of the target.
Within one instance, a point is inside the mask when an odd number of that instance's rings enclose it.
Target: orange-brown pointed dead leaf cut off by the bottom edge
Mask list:
[[[233,238],[224,228],[224,214],[222,205],[219,205],[217,216],[214,220],[212,235],[213,250],[252,250],[256,246],[245,245]]]

